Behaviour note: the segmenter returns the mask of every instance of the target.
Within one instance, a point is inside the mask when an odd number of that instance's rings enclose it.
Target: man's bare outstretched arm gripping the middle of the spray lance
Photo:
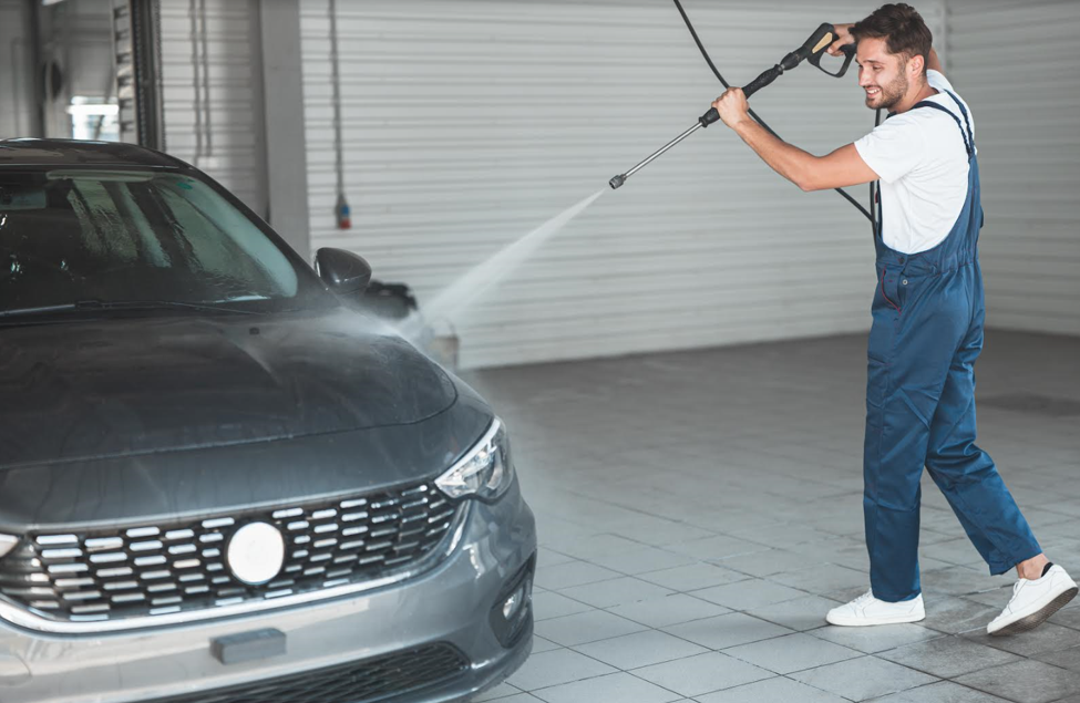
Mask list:
[[[740,87],[729,89],[712,106],[762,161],[803,190],[827,190],[877,180],[877,174],[866,165],[854,144],[827,156],[814,156],[769,134],[748,114],[747,97]]]

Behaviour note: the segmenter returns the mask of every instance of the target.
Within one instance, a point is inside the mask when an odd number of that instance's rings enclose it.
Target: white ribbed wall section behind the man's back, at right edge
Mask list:
[[[948,8],[946,70],[977,121],[987,323],[1080,334],[1080,3]]]

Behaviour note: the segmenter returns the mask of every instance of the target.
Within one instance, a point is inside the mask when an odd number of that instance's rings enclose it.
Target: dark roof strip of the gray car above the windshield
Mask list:
[[[0,139],[0,168],[6,166],[150,166],[189,168],[161,152],[122,142],[79,139]]]

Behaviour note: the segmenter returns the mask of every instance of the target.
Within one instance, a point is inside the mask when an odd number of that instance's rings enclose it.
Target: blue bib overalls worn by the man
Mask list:
[[[947,91],[946,91],[947,92]],[[877,247],[878,285],[867,349],[863,508],[871,588],[881,600],[919,595],[918,517],[923,466],[945,494],[975,547],[1004,573],[1039,555],[1027,520],[975,445],[974,364],[983,349],[983,273],[977,252],[983,206],[975,136],[956,121],[967,148],[967,199],[945,240],[919,254]]]

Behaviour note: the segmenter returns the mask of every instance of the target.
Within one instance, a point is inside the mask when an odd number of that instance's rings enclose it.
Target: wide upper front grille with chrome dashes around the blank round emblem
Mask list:
[[[30,535],[0,560],[0,593],[71,622],[265,601],[409,570],[443,540],[455,513],[424,483],[197,521]],[[276,526],[286,542],[280,572],[263,586],[234,578],[225,559],[233,533],[253,521]]]

